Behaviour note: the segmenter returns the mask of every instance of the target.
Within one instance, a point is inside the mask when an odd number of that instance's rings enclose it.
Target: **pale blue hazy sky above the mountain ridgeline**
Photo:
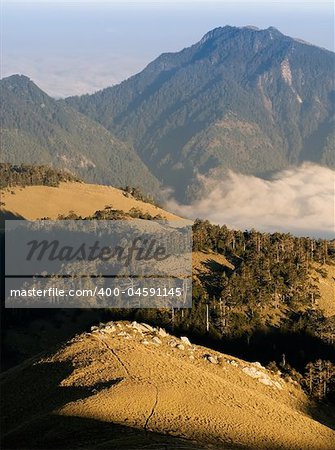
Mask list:
[[[53,96],[118,83],[224,25],[275,26],[333,49],[333,2],[2,1],[1,76],[22,73]]]

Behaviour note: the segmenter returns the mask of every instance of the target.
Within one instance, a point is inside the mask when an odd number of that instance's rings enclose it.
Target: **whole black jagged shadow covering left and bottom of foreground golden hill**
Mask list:
[[[61,386],[70,362],[27,361],[1,377],[2,449],[203,449],[192,442],[95,419],[58,415],[69,402],[85,399],[122,381],[90,387]]]

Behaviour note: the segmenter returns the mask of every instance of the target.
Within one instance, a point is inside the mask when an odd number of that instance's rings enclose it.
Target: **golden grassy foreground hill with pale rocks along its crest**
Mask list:
[[[135,321],[92,326],[3,373],[1,388],[3,448],[330,450],[335,439],[280,372]]]

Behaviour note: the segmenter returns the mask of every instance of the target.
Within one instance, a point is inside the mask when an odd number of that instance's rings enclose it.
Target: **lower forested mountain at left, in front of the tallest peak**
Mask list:
[[[157,179],[131,145],[49,97],[29,78],[4,78],[0,92],[3,162],[53,164],[89,182],[157,192]]]

